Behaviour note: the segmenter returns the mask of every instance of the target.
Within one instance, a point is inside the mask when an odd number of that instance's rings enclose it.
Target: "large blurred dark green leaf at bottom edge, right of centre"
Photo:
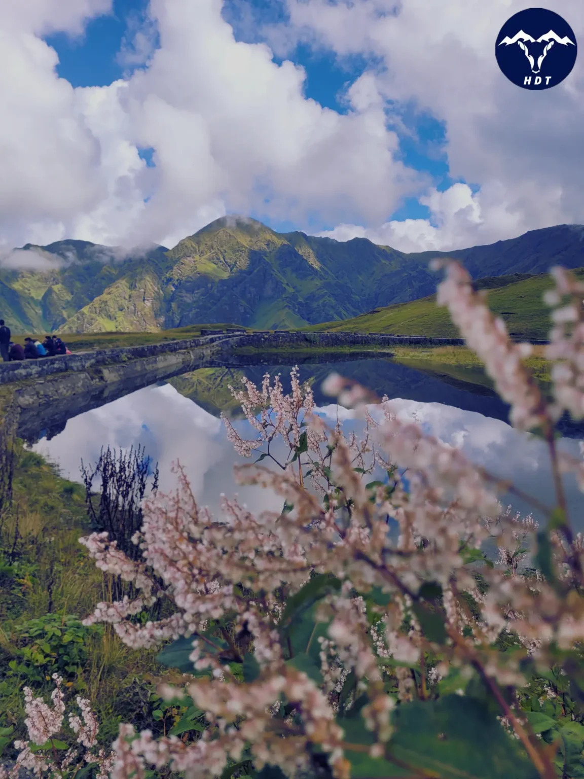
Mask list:
[[[519,742],[474,698],[447,695],[402,703],[394,710],[393,721],[396,731],[389,750],[418,771],[434,771],[441,779],[539,775]]]

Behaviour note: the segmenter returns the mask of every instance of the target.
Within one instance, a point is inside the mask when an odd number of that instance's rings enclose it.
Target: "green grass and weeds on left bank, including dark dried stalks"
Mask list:
[[[54,688],[53,673],[62,675],[68,700],[91,700],[100,745],[111,745],[121,721],[162,734],[164,722],[153,714],[160,708],[155,682],[168,669],[157,663],[156,652],[136,653],[112,626],[81,622],[99,601],[111,601],[119,577],[104,576],[79,537],[99,527],[100,509],[103,515],[122,492],[127,497],[135,490],[135,458],[118,462],[118,476],[111,469],[106,474],[110,502],[100,501],[97,479],[96,516],[88,511],[83,484],[62,478],[6,429],[0,442],[0,765],[15,756],[14,739],[27,738],[23,687],[46,694]],[[128,520],[127,500],[122,508],[118,524]],[[166,711],[167,730],[177,712]]]

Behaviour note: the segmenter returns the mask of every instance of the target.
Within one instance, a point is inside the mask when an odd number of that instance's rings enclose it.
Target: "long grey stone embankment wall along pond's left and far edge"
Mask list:
[[[0,363],[0,412],[16,412],[19,434],[58,432],[69,418],[117,400],[172,376],[213,365],[232,365],[241,354],[243,365],[265,365],[267,355],[298,353],[298,361],[314,353],[315,361],[335,350],[350,354],[381,347],[391,354],[398,345],[463,344],[459,338],[391,336],[381,333],[242,333],[208,330],[201,337],[163,344],[78,352],[37,360]],[[304,353],[304,354],[302,354]],[[343,354],[349,354],[344,351]],[[292,357],[292,359],[294,359]],[[51,433],[52,431],[52,433]]]

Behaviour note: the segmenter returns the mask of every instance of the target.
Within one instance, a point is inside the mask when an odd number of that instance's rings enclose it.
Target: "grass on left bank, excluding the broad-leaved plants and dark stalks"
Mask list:
[[[99,601],[111,600],[111,583],[79,544],[91,531],[83,485],[63,479],[18,441],[12,483],[12,509],[0,520],[0,728],[12,725],[13,738],[25,738],[23,686],[47,700],[53,683],[46,665],[23,657],[19,626],[47,614],[83,619]],[[111,744],[120,721],[150,725],[148,680],[167,671],[155,661],[156,650],[129,649],[111,626],[89,636],[86,649],[86,663],[66,682],[66,700],[90,698],[100,743]],[[34,678],[39,670],[41,681]],[[8,748],[2,757],[10,759]]]

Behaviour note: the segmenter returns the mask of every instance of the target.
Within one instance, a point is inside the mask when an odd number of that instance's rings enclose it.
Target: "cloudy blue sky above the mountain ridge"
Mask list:
[[[0,250],[171,247],[226,213],[406,252],[582,224],[584,58],[508,81],[494,43],[525,7],[1,3]],[[582,0],[553,9],[584,40]]]

